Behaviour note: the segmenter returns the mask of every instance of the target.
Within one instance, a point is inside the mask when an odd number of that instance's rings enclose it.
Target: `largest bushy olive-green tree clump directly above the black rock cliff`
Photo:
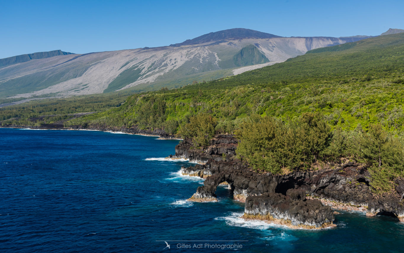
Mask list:
[[[305,112],[288,124],[272,117],[251,117],[236,131],[236,150],[257,171],[279,173],[282,168],[304,169],[330,145],[330,126],[319,113]]]

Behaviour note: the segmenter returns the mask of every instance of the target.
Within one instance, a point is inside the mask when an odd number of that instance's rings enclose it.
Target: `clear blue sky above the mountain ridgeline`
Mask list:
[[[404,29],[403,0],[2,1],[0,58],[166,46],[230,28],[279,36]]]

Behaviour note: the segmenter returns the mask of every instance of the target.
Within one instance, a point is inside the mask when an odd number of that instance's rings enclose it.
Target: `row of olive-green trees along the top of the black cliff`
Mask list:
[[[280,173],[310,168],[317,162],[350,158],[370,166],[373,190],[386,192],[392,181],[403,176],[404,146],[381,124],[368,132],[331,131],[319,113],[305,112],[295,120],[252,116],[236,131],[240,139],[236,153],[256,171]]]

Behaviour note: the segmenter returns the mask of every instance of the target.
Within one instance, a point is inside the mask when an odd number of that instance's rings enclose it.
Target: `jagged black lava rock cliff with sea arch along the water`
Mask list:
[[[246,203],[244,217],[248,219],[279,220],[288,226],[322,228],[334,220],[330,211],[332,206],[334,209],[366,211],[367,215],[389,214],[404,220],[404,201],[400,202],[404,180],[396,180],[396,192],[375,196],[370,192],[368,170],[353,162],[286,175],[256,173],[235,158],[236,143],[233,135],[219,135],[205,150],[192,150],[188,141],[177,145],[176,156],[203,162],[181,168],[183,175],[206,179],[189,200],[217,201],[217,186],[226,182],[234,199]]]

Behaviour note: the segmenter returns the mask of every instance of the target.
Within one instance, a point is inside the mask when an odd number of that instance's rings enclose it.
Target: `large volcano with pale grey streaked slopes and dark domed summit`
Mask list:
[[[27,61],[2,59],[0,97],[84,95],[131,88],[179,87],[272,65],[325,46],[365,37],[281,37],[236,28],[179,44],[87,54],[36,53]],[[52,52],[52,51],[51,51]],[[40,59],[38,59],[40,58]],[[13,64],[14,63],[14,64]],[[255,65],[253,65],[255,64]],[[249,66],[249,67],[243,67]],[[241,67],[241,68],[240,68]]]

